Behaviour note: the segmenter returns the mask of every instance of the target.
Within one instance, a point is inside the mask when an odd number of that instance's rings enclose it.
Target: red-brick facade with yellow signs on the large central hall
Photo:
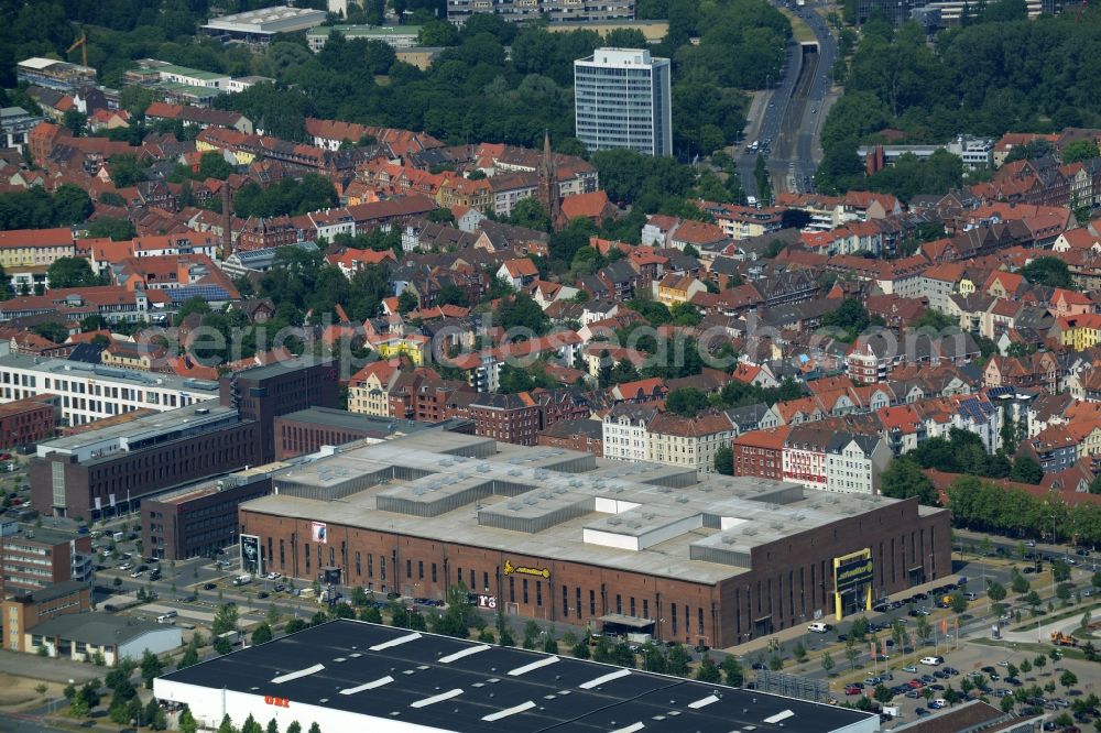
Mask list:
[[[752,554],[755,570],[732,568],[729,578],[711,584],[331,522],[327,541],[317,544],[309,541],[306,518],[247,505],[239,518],[241,533],[260,536],[265,568],[307,581],[335,566],[347,586],[444,598],[461,580],[472,592],[494,595],[509,614],[599,627],[600,616],[620,612],[654,619],[659,639],[715,647],[805,623],[816,611],[832,613],[832,559],[854,549],[871,550],[874,595],[951,572],[948,514],[919,516],[915,500],[761,545]],[[548,577],[505,576],[506,562],[545,568]]]

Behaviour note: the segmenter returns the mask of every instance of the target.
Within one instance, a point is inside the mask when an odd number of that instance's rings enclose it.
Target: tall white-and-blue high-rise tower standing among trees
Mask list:
[[[645,48],[597,48],[574,62],[577,139],[589,152],[673,154],[669,59]]]

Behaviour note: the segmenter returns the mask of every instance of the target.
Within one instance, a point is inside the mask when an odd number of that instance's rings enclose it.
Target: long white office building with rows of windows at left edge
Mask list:
[[[0,403],[43,394],[57,395],[62,422],[75,426],[140,407],[165,412],[215,400],[218,385],[65,359],[0,357]]]

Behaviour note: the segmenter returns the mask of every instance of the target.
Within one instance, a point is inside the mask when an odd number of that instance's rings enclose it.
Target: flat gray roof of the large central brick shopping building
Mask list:
[[[675,467],[487,440],[425,431],[338,451],[277,471],[279,493],[242,506],[713,583],[751,570],[756,547],[897,503],[753,477],[685,484]]]

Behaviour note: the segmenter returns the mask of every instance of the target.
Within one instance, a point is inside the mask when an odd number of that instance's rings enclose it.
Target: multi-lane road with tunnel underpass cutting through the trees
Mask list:
[[[746,133],[746,147],[754,140],[772,143],[766,157],[774,192],[813,190],[811,179],[820,158],[816,141],[832,90],[830,70],[838,56],[837,42],[822,17],[810,6],[798,8],[797,13],[815,34],[817,44],[792,42],[778,86],[764,114],[750,122]],[[746,195],[757,196],[757,152],[746,147],[738,156],[738,171]]]

